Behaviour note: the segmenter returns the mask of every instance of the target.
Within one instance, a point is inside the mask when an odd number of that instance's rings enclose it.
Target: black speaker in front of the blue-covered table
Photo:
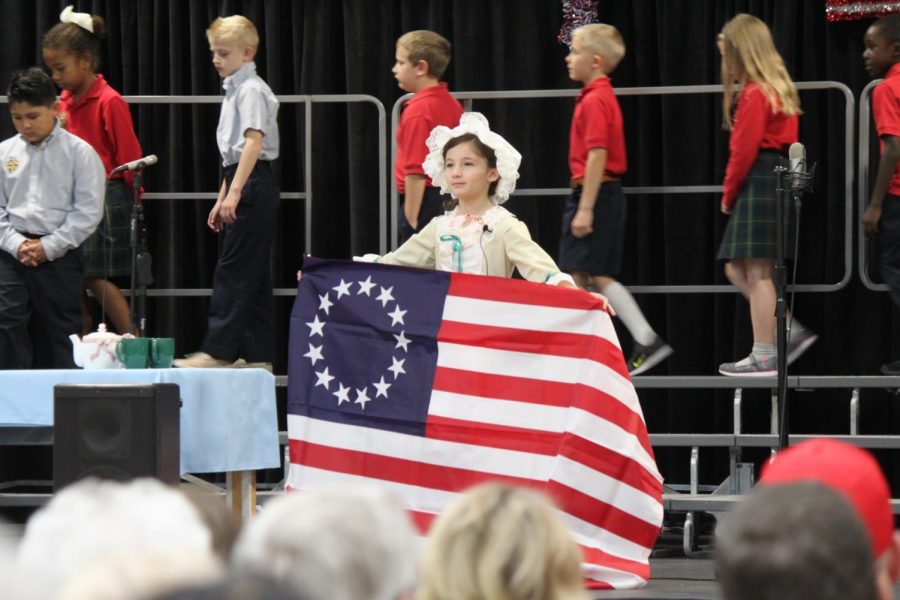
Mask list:
[[[84,477],[177,484],[178,392],[174,383],[54,386],[54,487]]]

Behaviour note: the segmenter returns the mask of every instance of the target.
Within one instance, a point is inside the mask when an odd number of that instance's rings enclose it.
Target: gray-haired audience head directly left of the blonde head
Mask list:
[[[306,600],[411,598],[416,538],[385,490],[361,484],[275,498],[234,548],[235,571],[269,575]]]

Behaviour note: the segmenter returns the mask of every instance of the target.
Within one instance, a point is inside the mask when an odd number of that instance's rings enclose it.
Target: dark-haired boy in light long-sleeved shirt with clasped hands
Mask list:
[[[81,243],[103,214],[103,162],[62,129],[56,88],[37,67],[7,92],[18,134],[0,143],[0,369],[75,368]]]

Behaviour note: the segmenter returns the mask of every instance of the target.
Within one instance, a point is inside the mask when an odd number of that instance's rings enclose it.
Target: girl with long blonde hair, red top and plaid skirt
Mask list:
[[[731,215],[719,247],[725,275],[750,303],[753,350],[749,356],[719,367],[722,375],[772,376],[775,360],[776,254],[775,167],[797,141],[800,99],[775,49],[765,23],[739,14],[725,24],[719,38],[722,52],[722,114],[731,129],[730,156],[723,182],[721,210]],[[793,252],[795,218],[788,207],[785,257]],[[793,321],[788,362],[795,360],[816,336]]]

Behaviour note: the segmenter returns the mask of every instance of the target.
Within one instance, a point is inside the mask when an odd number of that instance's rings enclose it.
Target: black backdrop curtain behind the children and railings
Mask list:
[[[4,0],[0,19],[0,73],[40,63],[43,32],[73,0]],[[390,114],[401,94],[390,73],[394,41],[427,28],[453,43],[446,79],[455,90],[573,88],[556,41],[559,0],[124,0],[75,2],[76,10],[106,18],[110,37],[102,71],[123,94],[219,94],[205,29],[218,15],[241,13],[256,23],[260,74],[277,94],[365,93]],[[617,87],[719,82],[716,33],[738,12],[772,27],[776,45],[796,81],[834,80],[855,96],[866,85],[862,37],[868,23],[828,23],[822,0],[600,0],[599,18],[623,33],[627,54],[613,74]],[[798,282],[834,283],[844,271],[845,176],[843,101],[836,92],[804,92],[801,140],[818,162],[816,192],[804,203]],[[727,134],[720,97],[622,98],[630,170],[626,185],[712,185],[721,182]],[[484,101],[493,127],[524,155],[522,187],[566,185],[572,101]],[[152,192],[213,191],[219,167],[215,146],[218,107],[142,105],[134,108],[145,153],[160,156],[147,171]],[[855,119],[855,117],[854,117]],[[2,121],[2,133],[12,132]],[[378,162],[374,110],[365,106],[314,108],[313,252],[347,258],[378,247]],[[299,105],[280,112],[283,191],[303,181],[303,120]],[[388,147],[390,145],[388,144]],[[855,154],[855,153],[854,153]],[[855,189],[855,188],[854,188]],[[855,202],[855,198],[853,199]],[[714,260],[724,226],[714,194],[631,196],[622,281],[626,284],[725,283]],[[514,198],[509,207],[555,254],[563,199]],[[147,203],[156,287],[209,287],[217,241],[206,226],[211,201]],[[854,204],[855,206],[855,204]],[[855,220],[854,210],[854,220]],[[303,240],[303,206],[285,200],[273,250],[277,287],[293,286]],[[854,224],[854,232],[856,226]],[[856,233],[854,233],[856,235]],[[855,243],[855,242],[854,242]],[[873,273],[877,277],[877,273]],[[292,298],[276,302],[277,372],[285,372],[287,318]],[[659,374],[713,374],[718,363],[747,353],[751,335],[746,303],[736,294],[644,295],[640,302],[676,354]],[[178,351],[192,351],[205,330],[206,298],[154,298],[150,331],[175,335]],[[843,291],[800,294],[796,313],[820,334],[797,363],[808,374],[871,374],[900,353],[898,323],[886,294],[870,292],[854,272]],[[630,349],[623,336],[623,346]],[[849,390],[795,394],[798,432],[846,433]],[[730,431],[730,393],[641,393],[654,432]],[[898,429],[900,414],[880,390],[863,392],[864,433]],[[745,431],[768,429],[768,393],[745,393]],[[727,459],[710,452],[704,477],[721,479]],[[687,479],[687,453],[659,452],[668,479]],[[755,456],[759,460],[762,455]],[[888,457],[884,463],[893,469]],[[704,459],[705,460],[705,459]],[[707,461],[709,462],[709,461]],[[898,463],[900,464],[900,463]],[[896,478],[895,478],[896,479]]]

